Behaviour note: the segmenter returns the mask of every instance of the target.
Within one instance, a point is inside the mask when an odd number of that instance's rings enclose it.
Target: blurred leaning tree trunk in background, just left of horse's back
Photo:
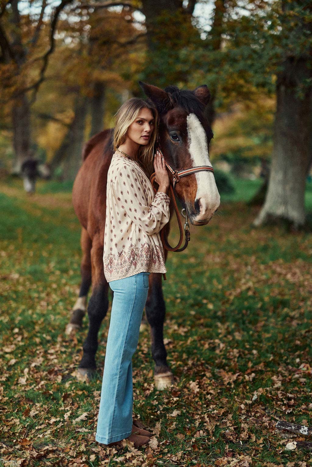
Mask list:
[[[74,180],[81,165],[81,153],[87,115],[87,97],[78,95],[75,99],[74,118],[65,134],[63,142],[56,151],[51,169],[63,163],[64,179]]]

